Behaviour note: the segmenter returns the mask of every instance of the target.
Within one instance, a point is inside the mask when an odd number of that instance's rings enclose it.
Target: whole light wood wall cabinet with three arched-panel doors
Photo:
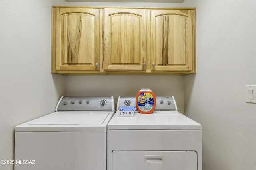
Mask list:
[[[195,8],[52,6],[52,72],[196,72]]]

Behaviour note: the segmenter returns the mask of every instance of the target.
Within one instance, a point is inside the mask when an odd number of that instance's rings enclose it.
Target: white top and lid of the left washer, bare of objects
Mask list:
[[[60,111],[15,127],[15,131],[106,131],[114,112]]]

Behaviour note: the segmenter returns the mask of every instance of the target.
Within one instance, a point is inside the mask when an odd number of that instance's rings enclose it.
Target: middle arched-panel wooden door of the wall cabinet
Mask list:
[[[144,70],[145,56],[146,10],[105,8],[104,69]]]

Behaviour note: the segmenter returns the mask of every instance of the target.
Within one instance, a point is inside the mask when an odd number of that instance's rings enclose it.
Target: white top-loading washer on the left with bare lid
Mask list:
[[[113,96],[63,97],[56,112],[15,127],[15,170],[106,170]]]

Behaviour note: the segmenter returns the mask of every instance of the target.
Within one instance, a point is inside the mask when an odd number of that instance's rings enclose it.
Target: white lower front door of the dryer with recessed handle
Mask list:
[[[197,170],[195,151],[114,150],[112,170]]]

